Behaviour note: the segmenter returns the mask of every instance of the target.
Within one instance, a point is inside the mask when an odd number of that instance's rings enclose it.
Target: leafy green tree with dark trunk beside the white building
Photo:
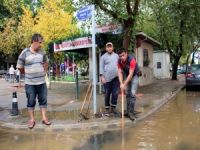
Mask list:
[[[149,6],[157,20],[162,47],[172,58],[172,80],[177,80],[181,56],[194,47],[200,35],[199,3],[194,0],[165,0],[162,3],[152,0]]]

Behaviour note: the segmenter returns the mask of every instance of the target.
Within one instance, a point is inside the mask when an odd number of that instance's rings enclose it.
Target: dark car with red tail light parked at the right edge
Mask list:
[[[193,86],[200,86],[200,64],[189,66],[186,73],[186,87]]]

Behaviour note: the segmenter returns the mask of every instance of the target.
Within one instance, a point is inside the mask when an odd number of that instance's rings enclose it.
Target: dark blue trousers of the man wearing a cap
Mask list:
[[[112,81],[104,84],[105,89],[105,108],[117,106],[117,99],[119,94],[119,79],[114,78]],[[112,97],[111,97],[112,96]],[[111,102],[110,102],[111,97]]]

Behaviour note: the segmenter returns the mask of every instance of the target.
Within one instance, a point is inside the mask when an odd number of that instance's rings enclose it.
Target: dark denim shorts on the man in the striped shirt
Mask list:
[[[36,98],[40,108],[47,107],[47,86],[46,83],[40,85],[25,85],[27,108],[34,109],[36,104]]]

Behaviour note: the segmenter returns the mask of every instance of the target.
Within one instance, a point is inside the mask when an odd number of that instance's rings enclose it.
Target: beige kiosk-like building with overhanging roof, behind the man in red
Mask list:
[[[135,56],[142,71],[139,78],[139,85],[147,85],[153,82],[153,49],[160,46],[160,43],[143,32],[136,34]]]

